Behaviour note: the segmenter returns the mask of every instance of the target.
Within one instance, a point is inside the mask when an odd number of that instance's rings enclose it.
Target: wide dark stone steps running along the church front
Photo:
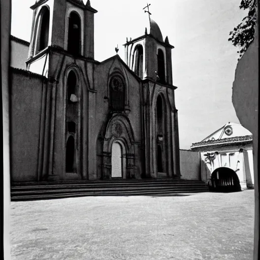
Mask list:
[[[203,181],[99,180],[12,183],[11,201],[61,199],[85,196],[177,196],[208,191]]]

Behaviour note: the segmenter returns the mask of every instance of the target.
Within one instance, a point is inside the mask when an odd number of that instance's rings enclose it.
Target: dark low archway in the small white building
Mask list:
[[[210,187],[213,191],[232,192],[241,191],[237,174],[230,168],[220,167],[211,174]]]

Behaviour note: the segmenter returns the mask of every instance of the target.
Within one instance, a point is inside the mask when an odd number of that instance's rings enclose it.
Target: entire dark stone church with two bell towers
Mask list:
[[[87,1],[38,0],[31,7],[26,70],[11,68],[13,182],[179,178],[178,115],[168,38],[150,18],[125,43],[125,62],[94,59]],[[148,29],[148,31],[147,31]]]

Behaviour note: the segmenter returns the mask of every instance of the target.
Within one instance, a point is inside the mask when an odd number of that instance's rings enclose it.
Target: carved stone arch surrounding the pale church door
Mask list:
[[[122,114],[112,116],[106,127],[106,134],[103,142],[103,178],[111,178],[112,173],[112,145],[114,142],[120,142],[124,146],[123,154],[124,178],[135,176],[135,148],[134,132],[129,119]]]

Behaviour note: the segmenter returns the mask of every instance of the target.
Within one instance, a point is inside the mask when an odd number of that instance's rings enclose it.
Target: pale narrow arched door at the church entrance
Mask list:
[[[122,178],[122,147],[118,142],[112,144],[112,178]]]

